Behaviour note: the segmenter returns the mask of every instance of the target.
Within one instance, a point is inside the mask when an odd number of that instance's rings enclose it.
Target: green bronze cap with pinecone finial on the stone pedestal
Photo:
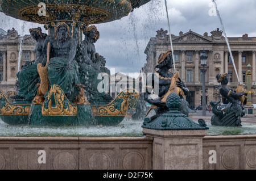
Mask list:
[[[203,119],[199,120],[199,124],[189,119],[179,110],[181,106],[180,96],[176,92],[171,92],[166,100],[166,106],[169,111],[158,116],[156,119],[144,119],[142,128],[158,129],[158,130],[191,130],[191,129],[209,129]]]

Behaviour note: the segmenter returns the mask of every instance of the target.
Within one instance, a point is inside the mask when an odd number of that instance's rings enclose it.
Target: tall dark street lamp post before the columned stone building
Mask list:
[[[200,54],[200,60],[201,60],[201,65],[203,65],[203,69],[201,70],[201,72],[203,73],[203,95],[202,95],[202,108],[203,108],[203,115],[202,116],[206,116],[206,103],[205,103],[205,72],[207,70],[204,69],[205,65],[207,65],[207,54],[205,53],[205,50],[203,50],[203,52],[201,52]]]

